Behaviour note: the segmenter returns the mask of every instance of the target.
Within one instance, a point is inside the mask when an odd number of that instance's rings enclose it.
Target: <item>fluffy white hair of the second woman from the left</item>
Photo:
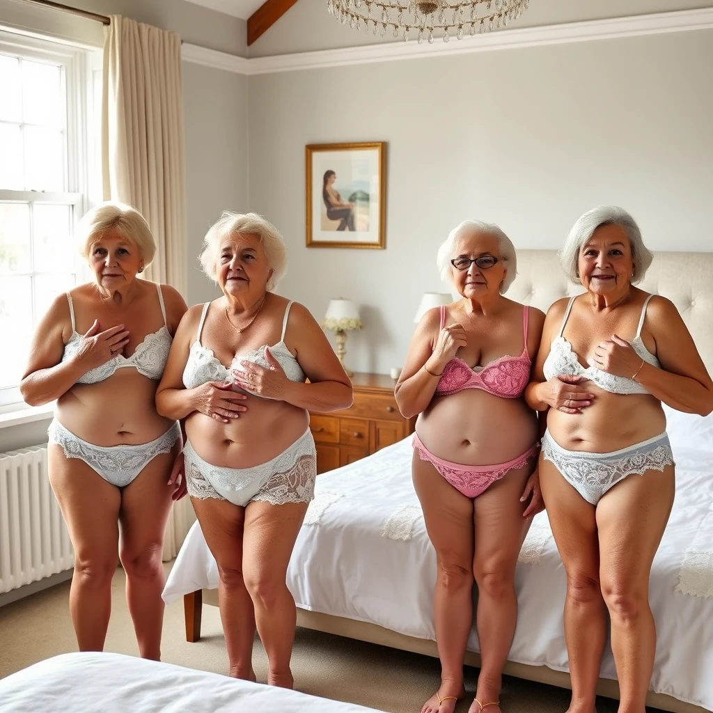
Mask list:
[[[220,241],[227,235],[236,233],[257,235],[260,238],[267,263],[272,267],[272,276],[267,280],[267,289],[272,291],[287,272],[287,250],[279,230],[257,213],[237,213],[232,210],[222,212],[220,218],[213,223],[203,238],[203,250],[200,253],[203,272],[217,282],[215,263],[220,250]]]

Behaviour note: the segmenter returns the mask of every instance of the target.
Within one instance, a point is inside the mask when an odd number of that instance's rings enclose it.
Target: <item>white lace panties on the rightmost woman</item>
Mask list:
[[[588,453],[567,451],[555,442],[550,431],[545,431],[542,455],[545,461],[552,461],[580,496],[592,505],[626,476],[662,472],[666,466],[676,465],[665,433],[613,453]]]

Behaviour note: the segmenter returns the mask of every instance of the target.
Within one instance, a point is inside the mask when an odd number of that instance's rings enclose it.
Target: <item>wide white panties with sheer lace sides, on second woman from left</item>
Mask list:
[[[279,456],[252,468],[212,466],[195,452],[190,441],[183,453],[186,487],[192,498],[227,500],[241,508],[251,501],[284,505],[309,503],[314,498],[317,448],[309,429]]]

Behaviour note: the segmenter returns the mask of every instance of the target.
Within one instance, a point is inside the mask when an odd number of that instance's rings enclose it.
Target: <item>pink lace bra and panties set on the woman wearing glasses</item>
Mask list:
[[[441,307],[441,326],[446,324],[446,307]],[[493,396],[503,399],[518,399],[530,381],[530,356],[528,354],[528,308],[523,307],[523,351],[518,356],[506,354],[486,366],[471,369],[463,359],[454,357],[443,369],[436,394],[448,396],[463,389],[482,389]],[[522,468],[538,451],[538,443],[528,448],[525,453],[507,463],[494,463],[491,466],[465,466],[434,456],[418,434],[412,441],[419,458],[431,463],[436,471],[446,478],[448,483],[466,498],[477,498],[493,483],[503,478],[509,471]]]

